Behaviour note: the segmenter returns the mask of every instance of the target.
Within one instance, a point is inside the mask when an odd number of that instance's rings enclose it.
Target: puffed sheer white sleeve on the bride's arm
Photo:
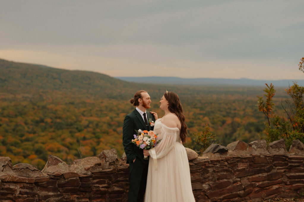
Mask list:
[[[154,148],[149,150],[150,157],[153,159],[164,157],[174,147],[177,131],[178,128],[169,128],[162,124],[163,139]]]

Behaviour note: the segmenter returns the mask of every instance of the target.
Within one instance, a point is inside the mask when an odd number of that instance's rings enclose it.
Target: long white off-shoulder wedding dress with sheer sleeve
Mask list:
[[[145,202],[195,202],[180,130],[169,128],[161,123],[161,119],[157,119],[154,132],[158,133],[161,142],[149,150]]]

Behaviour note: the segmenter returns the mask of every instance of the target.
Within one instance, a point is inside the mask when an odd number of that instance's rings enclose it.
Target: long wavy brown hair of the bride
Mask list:
[[[179,100],[178,95],[174,92],[166,92],[164,93],[164,96],[169,103],[168,110],[171,113],[174,113],[181,122],[180,137],[181,141],[184,143],[186,142],[187,138],[187,125],[185,123],[185,116],[183,114],[183,107],[181,106],[181,101]]]

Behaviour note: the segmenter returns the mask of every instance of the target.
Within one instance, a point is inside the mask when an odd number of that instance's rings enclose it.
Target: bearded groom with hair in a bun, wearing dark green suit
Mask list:
[[[151,127],[149,122],[155,119],[146,110],[150,108],[151,103],[146,91],[137,91],[134,98],[130,99],[130,103],[136,108],[123,121],[123,147],[130,168],[128,202],[142,202],[146,191],[149,160],[143,159],[143,150],[131,143],[131,140],[134,139],[135,130],[153,130],[154,126]]]

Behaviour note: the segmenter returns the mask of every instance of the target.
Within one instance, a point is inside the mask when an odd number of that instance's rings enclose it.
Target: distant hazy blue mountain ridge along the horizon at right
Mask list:
[[[161,76],[146,76],[146,77],[116,77],[123,81],[131,81],[138,83],[157,83],[157,84],[180,84],[180,85],[198,85],[198,86],[265,86],[265,83],[272,83],[278,87],[288,87],[296,81],[300,86],[304,86],[303,80],[255,80],[255,79],[216,79],[216,78],[180,78],[180,77],[161,77]],[[304,78],[304,75],[303,75]]]

